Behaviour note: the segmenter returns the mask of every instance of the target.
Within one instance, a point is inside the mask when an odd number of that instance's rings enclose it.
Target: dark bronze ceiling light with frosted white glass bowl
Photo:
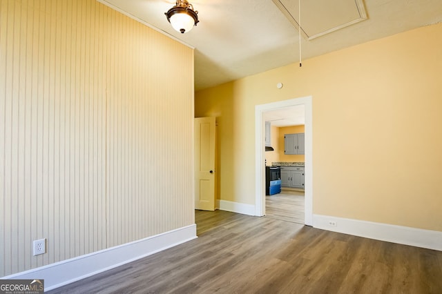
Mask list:
[[[177,0],[175,6],[164,14],[172,28],[182,34],[189,32],[199,22],[198,11],[193,10],[193,5],[186,0]]]

